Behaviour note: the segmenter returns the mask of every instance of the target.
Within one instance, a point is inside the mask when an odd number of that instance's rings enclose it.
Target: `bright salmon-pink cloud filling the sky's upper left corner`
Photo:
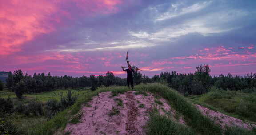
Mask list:
[[[60,8],[67,0],[4,0],[0,10],[0,55],[21,51],[21,46],[36,36],[53,32],[72,12]],[[72,0],[82,16],[111,14],[122,0]],[[76,8],[76,7],[74,7]],[[76,13],[78,14],[78,13]]]

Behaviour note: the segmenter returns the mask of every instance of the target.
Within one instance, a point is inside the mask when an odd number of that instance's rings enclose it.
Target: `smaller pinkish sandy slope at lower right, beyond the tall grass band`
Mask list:
[[[219,111],[213,111],[206,107],[196,105],[196,107],[203,113],[203,115],[208,116],[210,119],[212,119],[215,123],[219,124],[222,128],[228,127],[241,127],[241,128],[247,128],[249,130],[252,130],[253,127],[256,127],[255,124],[251,124],[248,122],[244,122],[240,119],[230,117],[228,115],[225,115],[223,113],[220,113]]]

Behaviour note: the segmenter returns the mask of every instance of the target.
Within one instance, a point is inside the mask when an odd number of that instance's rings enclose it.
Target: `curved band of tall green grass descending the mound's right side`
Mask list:
[[[209,118],[202,115],[192,104],[188,103],[184,97],[176,91],[159,83],[151,83],[147,85],[138,85],[135,89],[148,91],[162,96],[167,99],[172,107],[182,115],[188,126],[203,135],[220,135],[221,128],[213,123]]]

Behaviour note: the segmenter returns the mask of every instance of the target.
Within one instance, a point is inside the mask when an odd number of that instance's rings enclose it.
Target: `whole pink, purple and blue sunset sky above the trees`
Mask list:
[[[256,0],[1,0],[0,71],[256,72]]]

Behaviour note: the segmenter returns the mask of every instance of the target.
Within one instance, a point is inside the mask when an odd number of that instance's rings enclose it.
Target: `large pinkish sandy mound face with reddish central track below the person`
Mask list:
[[[68,124],[65,131],[70,135],[145,135],[143,127],[153,107],[159,108],[160,114],[175,115],[166,100],[147,94],[128,91],[111,97],[111,92],[100,93],[89,103],[91,107],[83,107],[81,123]]]

